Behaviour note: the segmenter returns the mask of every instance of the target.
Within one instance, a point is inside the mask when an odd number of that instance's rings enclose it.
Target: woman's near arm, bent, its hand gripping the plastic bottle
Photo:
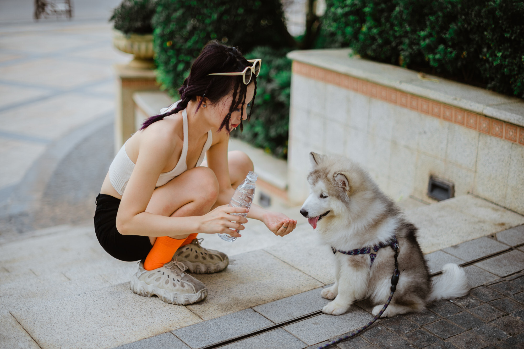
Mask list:
[[[140,135],[138,158],[116,216],[118,232],[123,235],[173,236],[195,232],[230,233],[228,228],[239,228],[241,217],[230,213],[244,213],[245,210],[240,208],[217,208],[204,216],[190,217],[169,217],[146,212],[160,172],[173,152],[181,151],[177,149],[173,133],[161,128],[151,125],[146,129],[147,132]]]

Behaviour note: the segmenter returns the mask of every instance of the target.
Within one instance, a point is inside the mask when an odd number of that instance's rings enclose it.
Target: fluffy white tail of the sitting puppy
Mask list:
[[[433,278],[431,282],[431,295],[428,297],[428,302],[462,297],[469,290],[464,269],[456,264],[446,264],[442,268],[442,275]]]

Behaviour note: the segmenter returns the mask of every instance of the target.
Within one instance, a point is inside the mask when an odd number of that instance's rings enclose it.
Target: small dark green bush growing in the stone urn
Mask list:
[[[113,9],[109,19],[124,34],[151,34],[151,18],[156,12],[155,0],[124,0]]]

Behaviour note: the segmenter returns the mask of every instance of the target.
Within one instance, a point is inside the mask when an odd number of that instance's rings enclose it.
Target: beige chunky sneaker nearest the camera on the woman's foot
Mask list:
[[[131,278],[130,289],[140,296],[157,295],[161,300],[185,306],[200,302],[208,296],[208,289],[199,280],[184,270],[187,267],[177,260],[171,260],[162,267],[146,270],[142,262]]]

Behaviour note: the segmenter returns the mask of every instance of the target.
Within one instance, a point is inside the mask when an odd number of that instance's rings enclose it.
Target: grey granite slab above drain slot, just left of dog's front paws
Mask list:
[[[317,288],[298,293],[298,295],[261,304],[253,307],[253,309],[275,323],[298,318],[321,310],[330,302],[330,300],[320,297],[321,290],[322,288]]]

